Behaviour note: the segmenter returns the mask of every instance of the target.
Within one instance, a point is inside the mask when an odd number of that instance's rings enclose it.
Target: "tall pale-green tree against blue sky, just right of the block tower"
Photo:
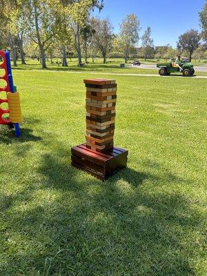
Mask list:
[[[124,55],[127,63],[129,55],[135,50],[139,42],[140,22],[136,14],[128,14],[120,24],[119,51]]]

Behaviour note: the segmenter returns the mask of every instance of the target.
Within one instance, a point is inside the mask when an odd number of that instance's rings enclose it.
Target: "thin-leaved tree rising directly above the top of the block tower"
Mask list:
[[[97,43],[97,48],[103,57],[103,63],[106,63],[106,57],[112,50],[113,27],[108,19],[93,18],[94,21],[94,36]]]

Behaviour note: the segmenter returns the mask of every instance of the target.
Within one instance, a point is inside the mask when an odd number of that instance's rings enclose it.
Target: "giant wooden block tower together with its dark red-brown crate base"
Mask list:
[[[105,180],[126,168],[128,151],[114,146],[117,83],[84,79],[86,83],[86,144],[71,149],[72,166]]]

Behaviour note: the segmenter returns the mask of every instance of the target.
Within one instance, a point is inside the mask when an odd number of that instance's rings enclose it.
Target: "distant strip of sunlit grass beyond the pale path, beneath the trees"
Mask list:
[[[102,59],[96,59],[95,63],[92,63],[92,59],[88,59],[89,63],[87,66],[78,67],[77,59],[68,60],[68,67],[58,66],[56,61],[60,59],[53,59],[53,63],[50,61],[47,62],[48,68],[46,70],[55,70],[55,71],[64,71],[64,72],[115,72],[115,73],[124,73],[124,74],[158,74],[158,69],[143,69],[137,67],[131,67],[130,63],[132,60],[126,64],[125,68],[120,68],[120,63],[123,63],[123,59],[108,59],[106,64],[103,64]],[[157,61],[156,61],[157,62]],[[166,62],[166,61],[164,61]],[[18,62],[18,67],[13,68],[15,70],[41,70],[41,64],[37,60],[28,59],[26,61],[27,65],[21,65]],[[207,76],[207,72],[195,72],[197,76]]]

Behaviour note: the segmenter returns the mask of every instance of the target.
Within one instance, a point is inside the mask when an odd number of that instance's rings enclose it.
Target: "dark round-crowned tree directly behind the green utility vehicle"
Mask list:
[[[190,61],[192,59],[193,52],[198,48],[200,44],[201,36],[197,30],[188,30],[184,34],[179,36],[179,41],[177,42],[178,50],[187,50],[190,54]]]

